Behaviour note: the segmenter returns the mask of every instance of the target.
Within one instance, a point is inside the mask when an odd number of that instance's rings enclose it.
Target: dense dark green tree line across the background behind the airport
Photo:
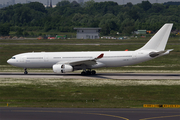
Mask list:
[[[100,27],[102,35],[131,34],[138,29],[156,32],[165,23],[174,23],[173,30],[179,31],[179,13],[178,5],[149,1],[118,5],[112,1],[89,0],[78,4],[63,0],[55,8],[31,2],[0,9],[0,35],[8,35],[10,31],[17,34],[23,31],[74,32],[74,27]]]

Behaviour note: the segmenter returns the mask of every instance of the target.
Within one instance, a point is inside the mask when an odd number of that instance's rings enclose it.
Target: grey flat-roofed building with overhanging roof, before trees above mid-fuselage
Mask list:
[[[77,30],[77,39],[99,39],[101,28],[74,28]]]

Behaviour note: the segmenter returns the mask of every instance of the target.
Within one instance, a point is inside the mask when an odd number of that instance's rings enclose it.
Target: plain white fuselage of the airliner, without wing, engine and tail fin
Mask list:
[[[150,51],[97,51],[97,52],[32,52],[13,56],[7,62],[22,68],[52,68],[58,62],[70,63],[93,59],[100,54],[103,58],[97,60],[97,64],[90,68],[120,67],[141,63],[152,59]]]

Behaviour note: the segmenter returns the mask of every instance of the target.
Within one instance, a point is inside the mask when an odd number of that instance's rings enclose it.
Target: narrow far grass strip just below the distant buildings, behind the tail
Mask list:
[[[145,44],[150,37],[147,38],[130,38],[125,40],[115,40],[115,39],[54,39],[54,40],[36,40],[36,39],[24,39],[24,40],[16,40],[16,39],[5,39],[0,40],[0,43],[131,43],[131,44]],[[179,43],[180,37],[171,37],[168,43]]]

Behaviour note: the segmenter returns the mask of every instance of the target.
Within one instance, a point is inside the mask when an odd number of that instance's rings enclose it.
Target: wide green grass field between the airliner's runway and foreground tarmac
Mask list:
[[[12,78],[1,80],[0,106],[8,103],[10,107],[132,108],[179,104],[179,85],[179,80]]]

